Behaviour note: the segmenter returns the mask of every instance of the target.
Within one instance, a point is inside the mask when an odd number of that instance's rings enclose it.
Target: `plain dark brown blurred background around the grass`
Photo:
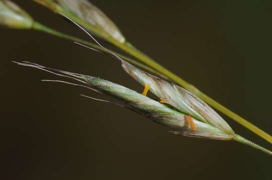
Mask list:
[[[81,30],[32,1],[14,0],[50,27]],[[271,1],[92,0],[136,47],[272,133]],[[0,27],[1,163],[5,179],[271,179],[266,154],[234,141],[172,135],[88,89],[15,61],[100,76],[142,91],[119,62],[34,30]],[[106,47],[113,48],[102,41]],[[223,115],[239,134],[272,145]],[[4,178],[3,178],[4,179]]]

